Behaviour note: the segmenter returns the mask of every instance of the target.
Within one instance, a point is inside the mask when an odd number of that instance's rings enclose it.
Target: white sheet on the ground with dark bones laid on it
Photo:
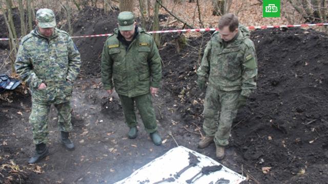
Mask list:
[[[196,166],[189,168],[183,172],[179,177],[176,177],[176,173],[181,169],[189,165],[189,152],[197,156],[200,161]],[[186,181],[191,179],[197,173],[201,172],[203,167],[206,166],[218,166],[220,163],[216,162],[214,159],[197,153],[193,150],[179,146],[169,150],[164,155],[152,160],[144,167],[133,172],[129,177],[116,182],[116,184],[122,183],[155,183],[162,181],[160,183],[187,183]],[[197,177],[201,176],[199,174]],[[196,177],[196,178],[197,178]],[[170,181],[163,181],[163,179],[168,179]],[[219,180],[221,179],[221,180]],[[212,172],[208,175],[203,175],[199,179],[193,179],[192,183],[209,184],[209,183],[229,183],[237,184],[246,178],[240,174],[230,170],[227,167],[222,166],[219,171]],[[173,181],[174,180],[174,181]]]

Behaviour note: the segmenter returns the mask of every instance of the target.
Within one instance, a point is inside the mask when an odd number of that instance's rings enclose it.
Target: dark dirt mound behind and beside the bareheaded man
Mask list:
[[[324,183],[328,159],[328,37],[313,30],[268,29],[251,35],[258,56],[258,89],[235,120],[231,146],[260,183]],[[209,39],[207,36],[206,40]],[[201,126],[205,91],[196,87],[200,38],[180,54],[168,45],[163,85],[178,97],[188,124]],[[246,166],[246,167],[245,167]],[[272,167],[263,174],[262,167]],[[254,175],[253,175],[254,176]],[[319,179],[319,180],[318,180]],[[322,179],[322,180],[321,180]]]

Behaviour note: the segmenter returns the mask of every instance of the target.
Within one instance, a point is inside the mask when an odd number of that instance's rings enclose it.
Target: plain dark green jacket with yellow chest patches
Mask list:
[[[153,37],[144,29],[126,46],[118,40],[118,29],[105,42],[101,55],[101,80],[106,90],[113,82],[118,94],[136,97],[158,88],[161,81],[161,59]],[[113,81],[112,81],[113,79]]]

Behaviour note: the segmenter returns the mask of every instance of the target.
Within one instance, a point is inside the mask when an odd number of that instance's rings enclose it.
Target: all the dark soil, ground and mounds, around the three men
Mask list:
[[[73,35],[112,33],[116,16],[85,9]],[[100,53],[106,37],[74,39],[83,60],[72,100],[75,151],[59,144],[52,108],[50,155],[28,165],[34,150],[28,123],[31,100],[29,95],[11,95],[12,103],[0,103],[0,164],[14,160],[21,171],[12,174],[1,166],[0,183],[113,183],[175,147],[169,131],[179,145],[215,159],[213,144],[197,148],[205,91],[197,88],[195,71],[202,55],[198,49],[210,35],[189,38],[180,53],[173,40],[177,35],[163,35],[162,88],[153,101],[159,132],[167,142],[159,147],[142,124],[138,137],[127,139],[119,100],[101,87]],[[258,88],[239,111],[226,157],[218,162],[251,178],[243,183],[328,183],[328,36],[268,29],[252,32],[251,39],[258,56]],[[264,167],[270,168],[267,173]]]

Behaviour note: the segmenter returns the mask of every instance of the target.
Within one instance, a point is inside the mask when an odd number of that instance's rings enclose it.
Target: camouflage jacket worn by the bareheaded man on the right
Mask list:
[[[257,57],[249,31],[240,26],[237,37],[224,43],[214,32],[208,42],[197,75],[209,78],[209,85],[223,91],[241,90],[249,97],[256,89]]]

